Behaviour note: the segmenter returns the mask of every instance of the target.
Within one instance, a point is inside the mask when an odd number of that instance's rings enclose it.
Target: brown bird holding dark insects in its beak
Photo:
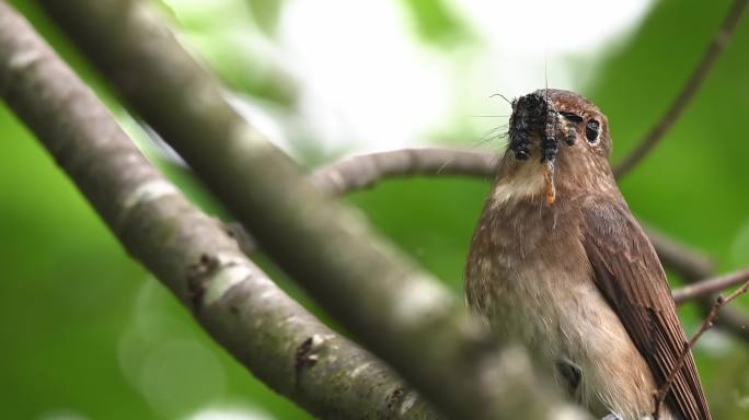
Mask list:
[[[512,102],[508,151],[473,235],[465,298],[595,416],[655,418],[687,336],[653,245],[611,173],[609,122],[585,97]],[[708,420],[688,354],[661,420]]]

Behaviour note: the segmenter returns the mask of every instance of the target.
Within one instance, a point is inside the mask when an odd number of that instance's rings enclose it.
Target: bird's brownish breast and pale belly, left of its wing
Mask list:
[[[500,337],[526,346],[542,370],[557,375],[560,361],[579,369],[576,398],[591,411],[645,407],[653,378],[592,280],[573,208],[564,200],[487,203],[469,253],[468,305]]]

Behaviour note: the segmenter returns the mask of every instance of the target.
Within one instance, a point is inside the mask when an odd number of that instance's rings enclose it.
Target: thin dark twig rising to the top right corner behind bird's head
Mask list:
[[[679,119],[689,103],[692,101],[692,98],[694,98],[694,95],[700,90],[700,86],[707,77],[707,73],[710,73],[710,70],[715,65],[715,61],[717,61],[721,52],[730,40],[730,37],[734,35],[741,14],[747,9],[747,3],[749,3],[749,0],[734,0],[734,3],[730,5],[730,9],[728,9],[728,13],[723,20],[721,27],[713,36],[713,39],[707,46],[707,49],[705,49],[705,52],[698,62],[698,66],[694,68],[694,70],[692,70],[689,79],[687,79],[687,82],[681,88],[681,92],[679,92],[679,94],[673,98],[673,102],[669,106],[666,114],[664,114],[664,116],[658,120],[658,122],[656,122],[650,131],[645,135],[637,147],[614,167],[614,174],[618,178],[624,176],[630,170],[637,165],[637,163],[639,163],[647,155],[647,153],[655,148],[655,145],[664,138],[666,132]]]

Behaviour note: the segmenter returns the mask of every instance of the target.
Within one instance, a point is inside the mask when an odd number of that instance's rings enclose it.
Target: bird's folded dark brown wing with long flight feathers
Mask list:
[[[687,342],[660,261],[626,206],[598,202],[583,214],[583,243],[596,284],[661,385]],[[684,420],[710,420],[690,353],[666,398]]]

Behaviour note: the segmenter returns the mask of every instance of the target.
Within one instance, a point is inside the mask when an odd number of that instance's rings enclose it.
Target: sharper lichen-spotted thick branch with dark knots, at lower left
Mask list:
[[[106,107],[0,1],[0,98],[118,236],[255,376],[322,418],[434,419],[385,365],[319,323],[138,151]]]

